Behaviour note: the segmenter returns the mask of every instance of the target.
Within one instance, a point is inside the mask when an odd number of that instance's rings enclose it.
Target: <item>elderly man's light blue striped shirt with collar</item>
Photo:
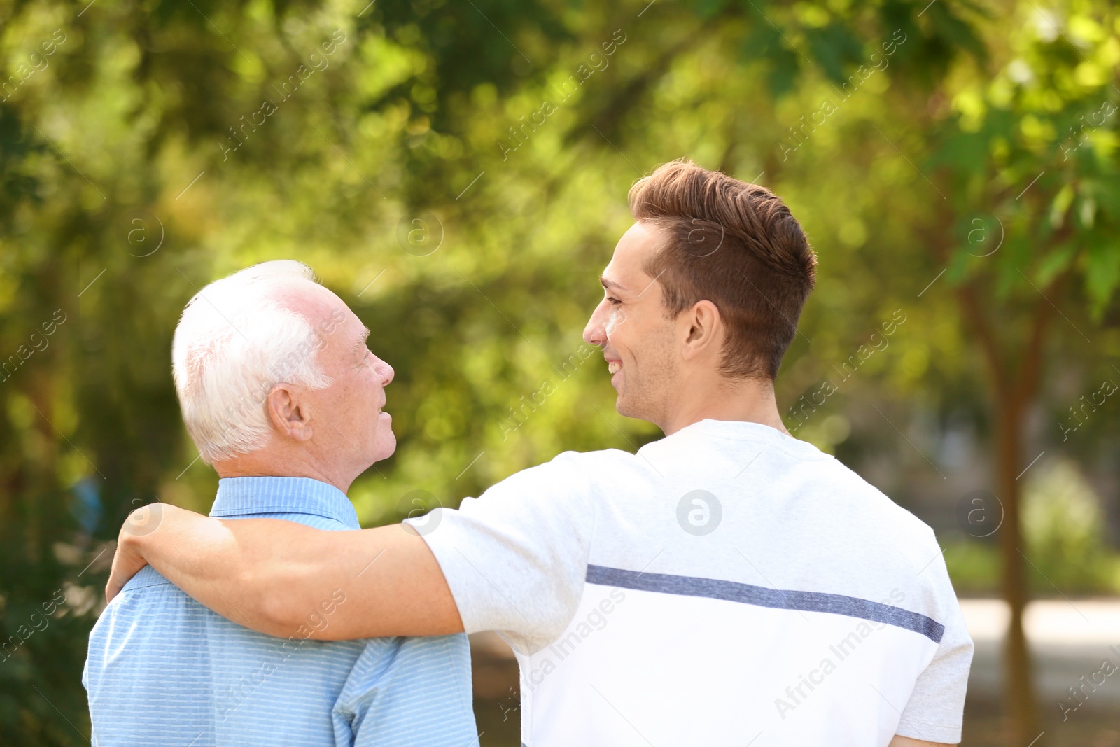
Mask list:
[[[358,529],[345,494],[306,477],[224,478],[211,515]],[[466,635],[307,639],[345,604],[346,589],[325,589],[306,627],[274,638],[215,615],[144,568],[90,634],[82,683],[92,744],[477,745]]]

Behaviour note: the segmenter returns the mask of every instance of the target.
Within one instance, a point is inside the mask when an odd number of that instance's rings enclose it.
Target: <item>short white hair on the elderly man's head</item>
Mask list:
[[[293,279],[316,282],[302,262],[262,262],[215,280],[183,309],[171,371],[183,421],[206,464],[268,443],[264,403],[277,384],[316,390],[332,383],[316,360],[326,338],[276,300]]]

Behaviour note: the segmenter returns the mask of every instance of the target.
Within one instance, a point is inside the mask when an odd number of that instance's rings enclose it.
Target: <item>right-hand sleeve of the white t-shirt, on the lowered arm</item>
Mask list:
[[[972,665],[972,638],[949,580],[944,558],[939,555],[925,573],[932,575],[937,600],[935,619],[943,622],[945,631],[933,659],[917,678],[896,734],[956,745],[961,741],[964,693]]]

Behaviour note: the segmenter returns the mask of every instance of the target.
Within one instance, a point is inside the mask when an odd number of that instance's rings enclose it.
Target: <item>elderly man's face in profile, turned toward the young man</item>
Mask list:
[[[370,352],[370,330],[333,292],[300,282],[288,298],[289,308],[325,336],[318,363],[334,380],[326,389],[302,393],[311,410],[314,448],[361,473],[396,449],[393,420],[382,411],[393,368]]]

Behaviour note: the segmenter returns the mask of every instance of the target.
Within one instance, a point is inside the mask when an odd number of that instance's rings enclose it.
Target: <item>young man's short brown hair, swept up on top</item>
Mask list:
[[[765,187],[685,159],[638,179],[629,208],[668,236],[644,270],[661,282],[669,315],[711,301],[728,329],[721,373],[774,380],[816,273],[790,208]]]

